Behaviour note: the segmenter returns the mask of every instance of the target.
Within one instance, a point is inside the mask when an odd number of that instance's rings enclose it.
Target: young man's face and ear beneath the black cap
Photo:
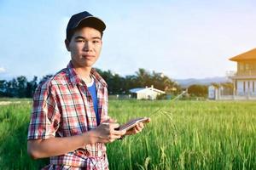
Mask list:
[[[70,42],[66,40],[74,67],[91,67],[102,50],[102,35],[94,28],[83,27],[75,31]]]

